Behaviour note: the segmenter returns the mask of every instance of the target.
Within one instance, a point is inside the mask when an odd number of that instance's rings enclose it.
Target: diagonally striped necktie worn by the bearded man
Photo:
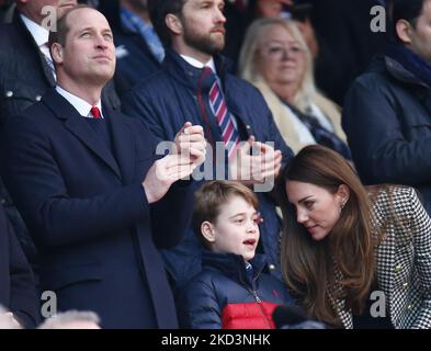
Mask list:
[[[209,89],[209,106],[222,132],[228,158],[235,155],[239,144],[239,134],[234,123],[234,117],[227,111],[225,97],[218,86],[217,77],[209,67],[204,67],[203,73],[212,81]]]

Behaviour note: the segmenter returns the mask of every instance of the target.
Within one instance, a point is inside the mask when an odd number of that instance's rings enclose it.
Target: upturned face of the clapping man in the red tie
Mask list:
[[[114,75],[115,47],[110,25],[103,14],[93,9],[79,9],[67,18],[69,32],[53,56],[63,72],[61,79],[80,84],[104,86]]]

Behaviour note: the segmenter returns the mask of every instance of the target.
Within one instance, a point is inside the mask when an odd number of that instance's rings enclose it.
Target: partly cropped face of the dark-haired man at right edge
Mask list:
[[[410,43],[408,47],[431,63],[431,1],[423,2],[422,14],[418,18],[416,27],[410,26]]]

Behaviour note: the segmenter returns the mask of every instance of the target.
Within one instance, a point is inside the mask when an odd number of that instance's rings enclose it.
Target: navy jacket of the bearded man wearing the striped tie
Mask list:
[[[226,104],[230,113],[236,116],[241,140],[250,135],[261,143],[273,141],[280,149],[284,162],[293,156],[274,123],[272,114],[262,94],[250,83],[229,72],[229,61],[223,56],[215,56],[217,73],[222,80],[226,97]],[[190,66],[177,53],[167,49],[163,69],[156,72],[148,80],[140,82],[129,93],[123,97],[124,111],[145,122],[159,140],[173,140],[185,122],[202,125],[205,137],[213,145],[222,140],[222,133],[215,118],[204,114],[200,101],[199,77],[201,70]],[[201,107],[200,107],[201,105]],[[214,178],[214,173],[212,174]],[[208,180],[208,179],[207,179]],[[197,188],[202,182],[194,182]],[[261,244],[268,257],[272,274],[281,279],[280,271],[280,218],[275,212],[275,204],[269,193],[257,193],[264,222],[261,225]],[[165,251],[168,269],[177,283],[182,285],[200,271],[201,245],[190,228],[177,248]]]

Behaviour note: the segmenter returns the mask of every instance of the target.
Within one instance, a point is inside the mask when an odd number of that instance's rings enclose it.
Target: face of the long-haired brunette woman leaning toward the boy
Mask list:
[[[298,181],[286,182],[286,194],[296,210],[296,220],[316,241],[325,239],[340,219],[341,208],[349,199],[347,185],[336,193],[325,188]]]

